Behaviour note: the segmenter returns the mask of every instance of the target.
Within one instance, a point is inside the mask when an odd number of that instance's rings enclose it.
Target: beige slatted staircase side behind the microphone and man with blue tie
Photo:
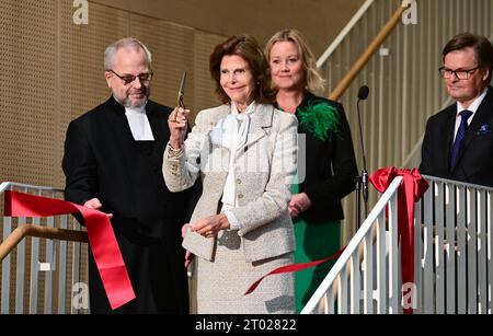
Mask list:
[[[490,0],[367,0],[318,61],[329,96],[403,2],[411,9],[339,99],[362,167],[356,103],[359,86],[370,88],[360,104],[369,172],[381,166],[417,167],[427,118],[450,104],[437,70],[443,47],[460,32],[493,33]],[[374,190],[369,196],[371,208],[378,195]],[[353,198],[344,201],[345,243],[355,233]]]

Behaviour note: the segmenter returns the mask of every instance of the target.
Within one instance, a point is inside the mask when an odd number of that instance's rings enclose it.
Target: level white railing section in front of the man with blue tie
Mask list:
[[[423,313],[491,313],[493,188],[426,177],[417,205]]]

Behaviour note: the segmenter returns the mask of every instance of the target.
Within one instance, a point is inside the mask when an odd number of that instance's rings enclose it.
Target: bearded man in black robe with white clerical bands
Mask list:
[[[65,197],[112,217],[136,292],[115,312],[188,313],[181,228],[193,197],[170,193],[161,173],[172,109],[148,100],[151,55],[144,44],[124,38],[104,56],[113,94],[68,127]],[[91,252],[89,279],[91,312],[112,312]]]

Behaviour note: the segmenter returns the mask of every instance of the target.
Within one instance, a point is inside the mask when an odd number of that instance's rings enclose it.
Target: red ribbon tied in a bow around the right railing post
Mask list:
[[[414,283],[414,204],[428,188],[428,183],[417,170],[387,167],[376,171],[369,178],[375,188],[383,193],[397,176],[402,176],[398,192],[398,232],[401,242],[402,283]],[[404,314],[412,314],[404,309]]]

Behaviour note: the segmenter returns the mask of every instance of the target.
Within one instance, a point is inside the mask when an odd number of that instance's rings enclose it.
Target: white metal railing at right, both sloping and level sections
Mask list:
[[[425,176],[415,205],[414,313],[491,313],[493,188]],[[402,313],[398,189],[393,179],[302,310]],[[388,218],[386,218],[388,208]],[[411,290],[411,291],[409,291]]]

